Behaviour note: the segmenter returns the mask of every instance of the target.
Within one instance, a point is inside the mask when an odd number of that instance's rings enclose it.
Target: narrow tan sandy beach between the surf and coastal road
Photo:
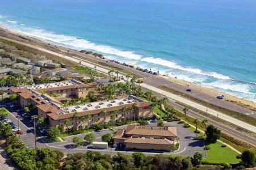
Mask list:
[[[80,53],[77,50],[72,50],[72,49],[65,48],[63,46],[55,45],[55,44],[53,44],[53,42],[50,42],[50,44],[49,44],[49,41],[46,42],[46,40],[40,40],[36,37],[31,37],[31,36],[28,36],[28,35],[24,35],[20,32],[15,31],[15,30],[11,30],[11,29],[7,29],[5,27],[2,27],[2,25],[0,25],[0,36],[7,37],[7,38],[13,39],[13,40],[26,42],[26,43],[29,43],[29,44],[32,44],[32,45],[40,46],[42,48],[52,50],[53,52],[69,54],[69,56],[72,56],[72,55],[75,54],[76,56],[83,57],[85,59],[88,59],[91,62],[101,63],[101,62],[106,61],[106,58],[105,59],[96,58],[96,57],[94,57],[93,55],[90,55],[90,54]],[[105,65],[106,65],[106,63],[105,63]],[[130,71],[133,74],[139,74],[141,76],[148,76],[148,74],[143,74],[141,71],[138,71],[138,70],[135,70],[135,69],[130,69],[129,67],[122,66],[122,65],[117,65],[115,63],[108,63],[107,65],[114,66],[114,67],[118,66],[120,69]],[[219,91],[216,91],[216,90],[213,90],[213,89],[210,89],[210,88],[201,87],[201,86],[198,86],[198,85],[193,84],[191,82],[187,82],[185,80],[174,79],[174,78],[171,78],[170,76],[164,76],[164,75],[159,75],[159,76],[161,78],[169,80],[172,83],[177,83],[177,84],[180,84],[181,86],[193,88],[193,89],[195,89],[197,91],[200,91],[204,94],[211,95],[214,98],[217,95],[224,95],[225,100],[227,100],[227,101],[232,101],[232,103],[240,105],[240,106],[242,106],[246,109],[252,109],[252,110],[255,109],[256,110],[256,103],[254,103],[253,101],[246,100],[246,99],[241,99],[241,98],[238,98],[236,96],[228,95],[228,94],[225,94],[224,92],[219,92]]]

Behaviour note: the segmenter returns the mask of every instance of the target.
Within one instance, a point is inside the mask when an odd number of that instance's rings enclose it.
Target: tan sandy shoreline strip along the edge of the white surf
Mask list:
[[[25,41],[25,42],[28,42],[28,43],[31,43],[31,44],[34,44],[34,45],[37,45],[37,46],[44,46],[44,48],[48,48],[48,49],[51,48],[50,50],[56,49],[59,52],[65,52],[65,53],[67,53],[68,50],[69,50],[72,53],[79,53],[77,55],[80,55],[83,58],[90,58],[94,61],[105,62],[108,59],[108,58],[98,59],[98,58],[93,57],[90,54],[80,53],[76,49],[67,48],[67,47],[61,46],[57,43],[55,44],[55,42],[40,39],[40,38],[35,37],[35,36],[26,35],[26,33],[22,33],[22,32],[14,30],[14,29],[7,28],[3,25],[0,25],[0,31],[1,31],[0,35],[2,35],[3,37],[9,37],[10,39]],[[49,43],[50,43],[50,45],[49,45]],[[108,63],[108,64],[112,65],[112,63]],[[130,70],[129,67],[125,67],[125,66],[123,66],[123,67],[124,67],[123,68],[124,70],[127,70],[127,71]],[[135,69],[133,69],[133,70],[135,70]],[[246,109],[250,109],[250,107],[256,109],[256,103],[254,103],[254,101],[251,101],[251,100],[242,99],[242,98],[237,97],[237,96],[232,96],[232,95],[226,94],[225,92],[220,92],[220,91],[214,90],[212,88],[199,86],[197,84],[194,84],[192,82],[188,82],[188,81],[185,81],[185,80],[182,80],[182,79],[174,79],[171,76],[159,75],[159,77],[164,78],[164,79],[166,79],[166,80],[168,80],[172,83],[180,84],[181,86],[186,86],[186,87],[189,87],[189,88],[193,88],[197,91],[208,94],[208,95],[210,95],[214,98],[217,95],[222,95],[223,94],[223,95],[225,95],[225,100],[228,100],[231,103],[240,105],[241,107],[244,107]]]

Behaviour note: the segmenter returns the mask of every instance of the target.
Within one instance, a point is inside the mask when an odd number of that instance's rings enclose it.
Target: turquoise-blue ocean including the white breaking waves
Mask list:
[[[0,0],[0,24],[256,102],[254,0]]]

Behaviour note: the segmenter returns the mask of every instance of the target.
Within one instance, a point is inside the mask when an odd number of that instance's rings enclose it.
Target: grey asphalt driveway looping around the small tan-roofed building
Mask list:
[[[151,124],[156,125],[156,124]],[[142,151],[145,155],[157,155],[157,154],[173,154],[173,155],[184,155],[184,156],[193,156],[195,152],[201,152],[205,156],[204,143],[203,141],[195,141],[193,137],[195,137],[195,133],[192,133],[186,128],[183,128],[181,125],[176,122],[167,122],[167,126],[176,126],[177,134],[180,138],[180,148],[175,152],[150,152],[150,151]],[[125,129],[127,125],[115,127],[114,129]],[[100,132],[93,132],[96,136],[96,141],[101,142],[101,136],[104,134],[112,133],[112,130],[102,130]],[[87,152],[89,150],[99,151],[101,154],[112,154],[115,155],[117,152],[123,152],[126,154],[133,154],[134,151],[123,151],[118,150],[117,148],[108,148],[106,150],[93,149],[91,145],[81,146],[74,148],[72,138],[77,136],[84,138],[86,134],[78,134],[67,137],[67,141],[65,142],[52,142],[48,143],[48,147],[54,148],[56,150],[62,151],[65,154],[74,153],[74,152]]]

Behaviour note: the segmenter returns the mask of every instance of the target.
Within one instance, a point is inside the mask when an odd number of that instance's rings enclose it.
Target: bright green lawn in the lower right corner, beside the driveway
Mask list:
[[[233,151],[229,147],[221,147],[222,143],[209,143],[205,141],[205,146],[209,146],[207,151],[207,162],[210,163],[238,163],[241,159],[237,159],[237,152]]]

